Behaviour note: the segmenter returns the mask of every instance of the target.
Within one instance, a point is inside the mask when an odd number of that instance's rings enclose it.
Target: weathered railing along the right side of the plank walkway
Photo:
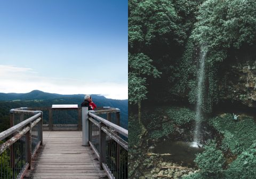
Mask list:
[[[123,179],[128,178],[128,131],[117,125],[120,124],[119,112],[117,109],[89,111],[89,144],[108,177]],[[108,120],[100,115],[106,115]],[[110,122],[114,118],[116,124]]]

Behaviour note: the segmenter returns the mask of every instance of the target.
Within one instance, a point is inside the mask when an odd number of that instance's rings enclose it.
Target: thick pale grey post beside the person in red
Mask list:
[[[89,115],[88,107],[82,107],[82,133],[83,133],[83,145],[89,145]]]

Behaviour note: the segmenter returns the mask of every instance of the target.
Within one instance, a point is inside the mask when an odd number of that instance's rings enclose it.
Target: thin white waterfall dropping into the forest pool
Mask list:
[[[199,55],[199,69],[197,74],[197,102],[196,102],[196,123],[194,132],[193,147],[198,147],[201,142],[200,127],[203,119],[202,107],[204,102],[204,80],[205,80],[205,48],[201,47]]]

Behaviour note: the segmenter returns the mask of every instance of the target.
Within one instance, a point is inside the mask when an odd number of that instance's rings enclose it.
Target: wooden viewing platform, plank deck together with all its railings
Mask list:
[[[39,109],[10,110],[12,127],[0,133],[1,178],[127,178],[128,131],[116,125],[119,109]],[[76,110],[77,124],[54,123],[57,109]]]

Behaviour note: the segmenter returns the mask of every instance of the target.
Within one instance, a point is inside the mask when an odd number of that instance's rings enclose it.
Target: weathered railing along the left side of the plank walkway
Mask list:
[[[10,110],[11,128],[0,133],[1,178],[22,178],[42,145],[42,111],[26,109]]]

